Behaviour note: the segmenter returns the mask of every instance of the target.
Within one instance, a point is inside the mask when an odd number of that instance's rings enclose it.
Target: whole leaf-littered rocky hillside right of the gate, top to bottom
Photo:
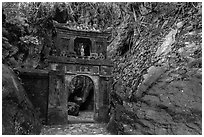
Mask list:
[[[145,17],[149,26],[134,36],[132,48],[124,56],[111,52],[116,84],[107,128],[113,134],[202,134],[201,8],[184,3],[192,16],[174,18],[168,10],[175,5],[161,5],[168,20]],[[117,39],[111,44],[118,45]]]

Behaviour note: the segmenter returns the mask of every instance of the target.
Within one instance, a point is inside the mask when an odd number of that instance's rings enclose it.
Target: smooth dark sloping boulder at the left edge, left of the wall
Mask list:
[[[41,123],[15,73],[2,65],[2,134],[40,134]]]

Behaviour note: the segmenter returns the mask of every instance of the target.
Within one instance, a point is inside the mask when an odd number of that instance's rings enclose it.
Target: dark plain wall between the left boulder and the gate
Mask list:
[[[30,101],[40,114],[41,122],[46,124],[49,89],[48,72],[35,70],[25,73],[22,71],[19,76]]]

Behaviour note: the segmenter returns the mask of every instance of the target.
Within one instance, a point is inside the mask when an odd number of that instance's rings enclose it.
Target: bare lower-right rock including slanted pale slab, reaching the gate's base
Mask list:
[[[133,93],[132,100],[114,99],[115,113],[108,130],[114,131],[113,134],[202,134],[201,69],[181,74],[181,70],[152,68]],[[111,127],[123,127],[123,131],[111,130]]]

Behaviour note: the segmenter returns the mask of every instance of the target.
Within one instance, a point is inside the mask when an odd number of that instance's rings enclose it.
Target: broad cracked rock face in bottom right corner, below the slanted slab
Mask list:
[[[202,79],[198,72],[177,79],[164,73],[137,103],[135,127],[141,134],[202,134]]]

